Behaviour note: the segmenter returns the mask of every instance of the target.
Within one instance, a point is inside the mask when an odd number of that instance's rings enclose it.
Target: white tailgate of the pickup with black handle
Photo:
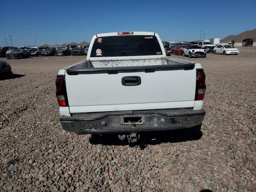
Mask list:
[[[194,106],[195,67],[156,69],[153,72],[139,68],[116,72],[111,72],[112,68],[110,72],[108,70],[99,72],[84,70],[77,74],[66,72],[70,113]]]

